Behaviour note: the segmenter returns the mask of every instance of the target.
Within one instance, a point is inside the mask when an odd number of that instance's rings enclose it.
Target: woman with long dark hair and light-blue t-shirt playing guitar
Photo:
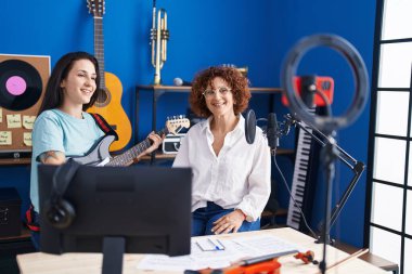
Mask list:
[[[62,165],[68,156],[83,156],[104,135],[92,116],[86,110],[100,93],[99,64],[86,52],[72,52],[62,56],[49,78],[44,99],[33,129],[30,199],[27,212],[31,239],[39,249],[39,164]],[[162,138],[152,132],[153,141],[143,154],[153,152]]]

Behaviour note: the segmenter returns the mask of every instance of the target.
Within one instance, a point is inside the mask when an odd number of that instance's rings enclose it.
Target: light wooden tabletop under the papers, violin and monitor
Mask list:
[[[274,229],[265,230],[259,232],[246,232],[237,234],[227,234],[219,235],[222,238],[233,238],[233,237],[245,237],[247,235],[260,235],[260,234],[272,234],[276,237],[283,238],[291,243],[298,244],[305,250],[310,249],[314,251],[314,259],[318,261],[322,260],[322,245],[313,243],[313,238],[297,232],[292,229]],[[337,261],[347,258],[349,255],[340,251],[334,247],[327,246],[327,265],[331,265]],[[144,257],[144,255],[125,255],[123,273],[181,273],[181,272],[165,272],[165,271],[141,271],[137,269],[138,262]],[[47,255],[41,252],[18,255],[17,263],[22,274],[51,274],[51,273],[64,273],[64,274],[98,274],[101,273],[103,256],[101,253],[65,253],[62,256]],[[319,273],[318,265],[314,264],[304,264],[293,258],[293,256],[285,256],[279,259],[282,263],[281,273]],[[335,268],[330,269],[326,273],[350,273],[350,274],[385,274],[384,270],[378,269],[365,261],[360,259],[350,259],[345,263],[342,263]]]

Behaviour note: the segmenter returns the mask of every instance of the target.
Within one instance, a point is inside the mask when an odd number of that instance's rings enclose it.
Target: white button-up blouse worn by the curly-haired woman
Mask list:
[[[245,139],[245,119],[240,115],[233,131],[216,156],[210,120],[194,125],[183,138],[173,167],[192,168],[192,212],[214,201],[224,209],[241,209],[256,221],[269,199],[271,161],[268,141],[256,127],[253,144]]]

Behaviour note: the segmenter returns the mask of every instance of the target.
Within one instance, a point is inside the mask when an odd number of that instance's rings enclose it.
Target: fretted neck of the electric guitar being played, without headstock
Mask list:
[[[163,135],[167,134],[169,131],[167,128],[157,131],[156,134]],[[139,155],[141,155],[145,149],[147,149],[152,145],[151,140],[147,138],[144,141],[140,142],[139,144],[134,145],[130,149],[128,149],[126,153],[120,154],[110,160],[105,165],[105,167],[125,167],[128,166],[130,162],[133,161],[133,159],[138,158]]]

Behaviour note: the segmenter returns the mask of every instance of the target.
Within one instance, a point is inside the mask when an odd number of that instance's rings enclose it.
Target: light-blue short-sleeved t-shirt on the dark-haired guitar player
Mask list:
[[[57,151],[66,157],[83,156],[104,135],[93,117],[82,113],[78,119],[59,109],[41,113],[33,129],[33,155],[30,173],[30,199],[39,212],[39,185],[37,177],[38,156],[44,152]]]

